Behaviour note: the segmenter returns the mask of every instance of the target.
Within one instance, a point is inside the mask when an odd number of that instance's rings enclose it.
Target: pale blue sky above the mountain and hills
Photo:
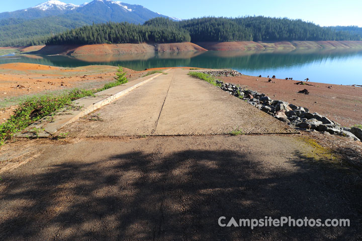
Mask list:
[[[92,0],[63,0],[76,5]],[[46,0],[0,0],[0,12],[34,7]],[[321,26],[357,25],[362,27],[362,0],[127,0],[154,12],[180,19],[203,16],[270,16],[302,19]]]

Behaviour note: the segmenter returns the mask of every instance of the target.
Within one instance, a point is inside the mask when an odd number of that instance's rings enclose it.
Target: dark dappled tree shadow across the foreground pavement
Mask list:
[[[14,176],[2,240],[361,238],[360,179],[302,153],[290,167],[238,151],[129,152]],[[354,176],[355,177],[355,176]],[[347,180],[348,179],[348,180]],[[353,184],[353,185],[351,185]],[[218,218],[350,218],[351,227],[220,227]]]

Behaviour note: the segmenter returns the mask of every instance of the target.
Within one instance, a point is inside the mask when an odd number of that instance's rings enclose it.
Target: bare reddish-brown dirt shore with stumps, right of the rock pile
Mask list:
[[[218,78],[265,93],[272,99],[307,107],[310,112],[325,115],[342,126],[362,123],[362,87],[313,82],[308,83],[314,86],[296,85],[299,81],[285,79],[274,79],[275,83],[269,83],[268,78],[245,75]],[[298,93],[302,89],[308,89],[310,94]]]

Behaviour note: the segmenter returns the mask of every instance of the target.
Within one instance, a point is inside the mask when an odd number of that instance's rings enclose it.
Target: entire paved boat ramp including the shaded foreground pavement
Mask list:
[[[71,124],[74,138],[22,139],[2,147],[0,239],[362,239],[360,172],[330,164],[328,150],[305,137],[112,138],[188,129],[222,133],[237,125],[250,126],[244,129],[249,133],[262,130],[261,124],[274,128],[265,133],[282,130],[281,122],[251,105],[176,73]],[[220,227],[221,216],[349,218],[351,226],[251,230]]]

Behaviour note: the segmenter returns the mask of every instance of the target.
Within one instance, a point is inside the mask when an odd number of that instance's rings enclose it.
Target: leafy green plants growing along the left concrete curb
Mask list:
[[[95,96],[96,92],[127,83],[126,73],[122,67],[117,70],[115,79],[116,81],[105,84],[103,88],[97,90],[73,89],[60,95],[46,94],[27,98],[19,104],[14,115],[0,125],[0,146],[10,140],[14,134],[23,131],[41,118],[66,106],[73,106],[73,100]],[[37,134],[39,131],[34,130],[34,132]]]

